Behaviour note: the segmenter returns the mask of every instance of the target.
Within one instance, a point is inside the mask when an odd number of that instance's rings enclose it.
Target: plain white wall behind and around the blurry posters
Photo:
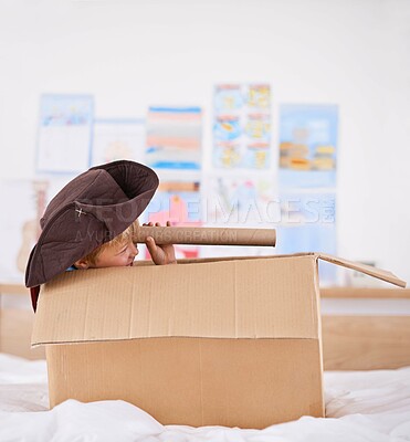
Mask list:
[[[339,254],[410,280],[409,23],[408,0],[0,0],[0,178],[34,173],[41,93],[94,94],[97,117],[200,105],[208,167],[213,84],[269,82],[274,123],[339,105]]]

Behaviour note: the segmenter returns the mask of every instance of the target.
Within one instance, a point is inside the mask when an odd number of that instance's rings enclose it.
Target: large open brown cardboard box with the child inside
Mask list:
[[[324,415],[324,254],[66,272],[42,287],[51,407],[123,399],[164,424],[265,428]],[[182,265],[181,265],[182,264]]]

